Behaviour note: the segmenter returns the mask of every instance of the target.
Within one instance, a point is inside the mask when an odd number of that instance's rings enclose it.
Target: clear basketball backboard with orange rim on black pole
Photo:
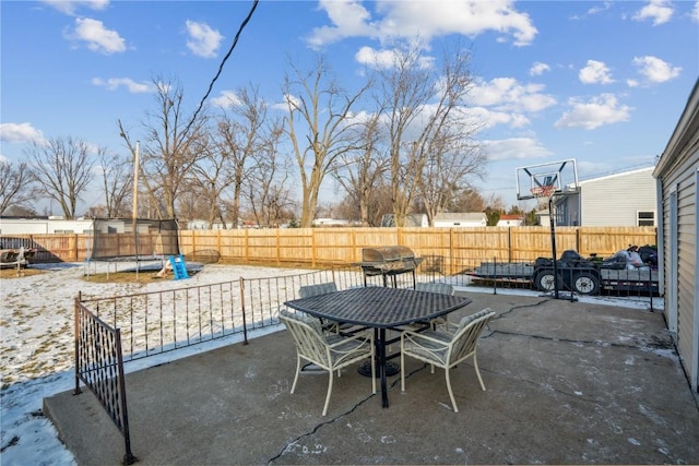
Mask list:
[[[519,167],[516,176],[519,201],[578,192],[574,158]]]

